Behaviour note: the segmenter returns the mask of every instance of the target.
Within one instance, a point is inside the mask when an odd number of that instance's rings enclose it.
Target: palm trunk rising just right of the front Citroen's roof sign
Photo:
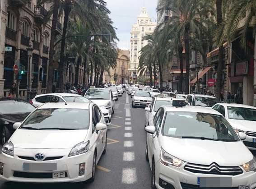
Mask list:
[[[185,33],[184,33],[184,41],[185,41],[185,59],[186,59],[186,82],[185,82],[185,93],[189,93],[189,85],[190,85],[190,79],[189,79],[189,24],[185,27]]]

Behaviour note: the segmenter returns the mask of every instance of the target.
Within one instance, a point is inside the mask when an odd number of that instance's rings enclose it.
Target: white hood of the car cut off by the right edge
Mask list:
[[[256,132],[256,121],[228,119],[228,122],[235,129]]]

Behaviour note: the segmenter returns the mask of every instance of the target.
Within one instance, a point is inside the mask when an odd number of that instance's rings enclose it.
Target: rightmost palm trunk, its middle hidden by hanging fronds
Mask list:
[[[222,24],[222,0],[216,0],[216,11],[217,11],[217,25]],[[218,59],[218,68],[217,68],[217,79],[216,79],[216,88],[215,95],[220,99],[221,92],[221,81],[222,81],[222,70],[223,70],[223,45],[219,46],[219,59]]]

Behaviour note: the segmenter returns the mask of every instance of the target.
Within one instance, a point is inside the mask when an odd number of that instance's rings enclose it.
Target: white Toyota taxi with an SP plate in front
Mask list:
[[[0,154],[4,181],[93,181],[107,149],[107,125],[92,102],[43,104],[14,129]]]

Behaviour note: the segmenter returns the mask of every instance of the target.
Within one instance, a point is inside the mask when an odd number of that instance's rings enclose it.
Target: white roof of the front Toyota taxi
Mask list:
[[[47,102],[45,104],[43,104],[42,106],[39,106],[38,109],[50,109],[50,108],[56,108],[56,109],[60,109],[60,108],[73,108],[73,109],[84,109],[84,110],[88,110],[89,106],[92,102],[83,102],[83,103],[77,103],[77,102],[58,102],[58,103],[54,103],[54,102]]]

